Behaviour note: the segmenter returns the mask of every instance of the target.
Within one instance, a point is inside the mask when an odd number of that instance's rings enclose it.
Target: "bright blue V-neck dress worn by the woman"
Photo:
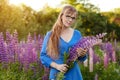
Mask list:
[[[57,60],[53,60],[46,54],[47,53],[46,52],[46,46],[47,46],[47,42],[48,42],[48,39],[50,37],[50,34],[51,34],[50,31],[47,32],[47,34],[44,38],[42,49],[41,49],[41,52],[40,52],[40,60],[41,60],[43,65],[50,68],[49,79],[50,80],[51,79],[55,80],[55,76],[59,71],[50,66],[51,62],[54,61],[57,64],[63,64],[64,53],[65,52],[68,53],[69,48],[71,46],[73,46],[74,44],[76,44],[82,38],[82,36],[81,36],[81,33],[78,30],[74,30],[73,36],[72,36],[72,38],[69,42],[64,41],[60,37],[60,40],[59,40],[59,58]],[[78,60],[84,61],[84,60],[86,60],[86,58],[87,58],[87,55],[85,55],[84,57],[79,57]],[[80,71],[80,67],[79,67],[77,62],[74,62],[74,67],[72,69],[70,69],[67,73],[65,73],[64,80],[83,80],[82,74],[81,74],[81,71]]]

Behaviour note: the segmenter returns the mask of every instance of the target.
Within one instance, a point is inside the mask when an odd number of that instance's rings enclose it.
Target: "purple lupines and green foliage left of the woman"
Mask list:
[[[0,33],[0,80],[41,80],[43,66],[39,53],[43,37],[28,35],[18,40],[18,33]]]

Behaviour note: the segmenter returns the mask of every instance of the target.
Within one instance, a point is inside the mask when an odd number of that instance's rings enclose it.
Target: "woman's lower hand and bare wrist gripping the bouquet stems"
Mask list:
[[[68,70],[68,67],[69,67],[69,66],[68,66],[67,64],[57,64],[57,63],[55,63],[55,62],[52,62],[52,63],[51,63],[51,67],[59,70],[60,72],[65,73],[65,72]]]

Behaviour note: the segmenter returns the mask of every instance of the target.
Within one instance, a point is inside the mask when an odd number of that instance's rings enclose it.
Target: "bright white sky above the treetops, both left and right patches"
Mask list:
[[[19,5],[21,3],[30,6],[34,10],[40,10],[45,4],[51,7],[59,6],[62,0],[9,0],[10,4]],[[120,8],[120,0],[89,0],[92,4],[100,8],[101,11],[109,11]]]

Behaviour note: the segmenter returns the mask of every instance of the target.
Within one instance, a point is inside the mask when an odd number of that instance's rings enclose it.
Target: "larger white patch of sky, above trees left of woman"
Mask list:
[[[45,4],[48,4],[51,7],[56,7],[59,5],[61,0],[9,0],[10,4],[20,5],[25,4],[30,6],[34,10],[40,10]]]

